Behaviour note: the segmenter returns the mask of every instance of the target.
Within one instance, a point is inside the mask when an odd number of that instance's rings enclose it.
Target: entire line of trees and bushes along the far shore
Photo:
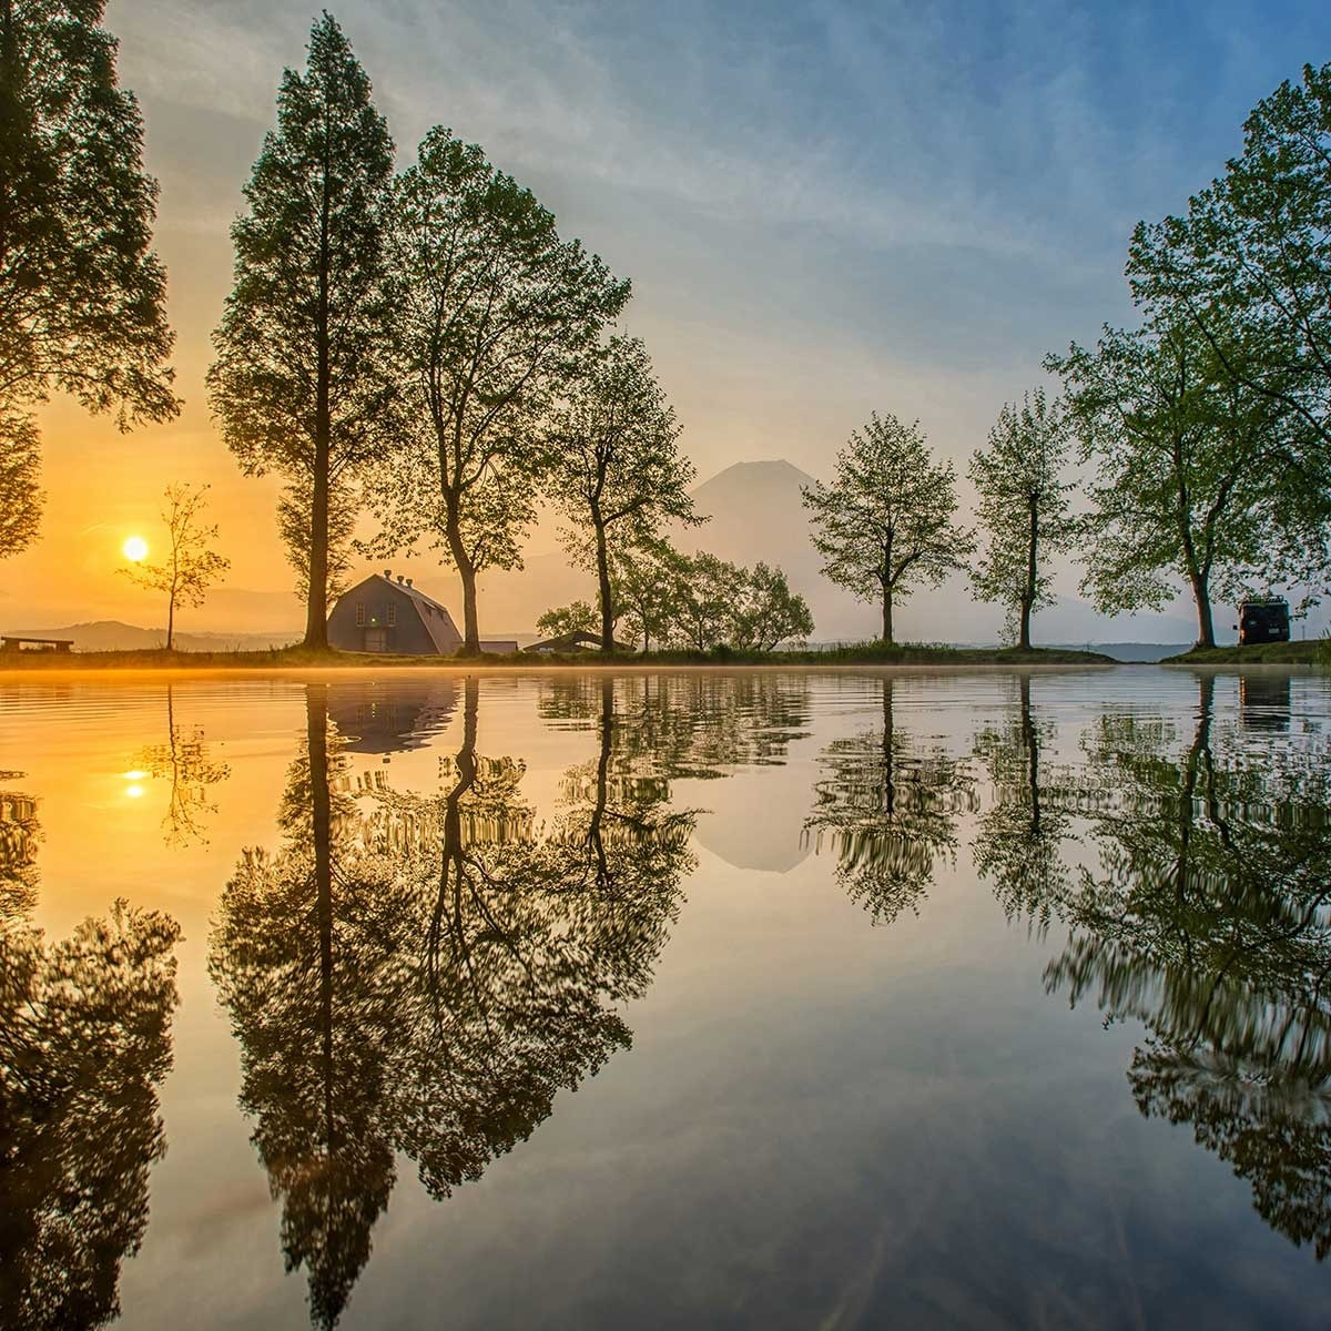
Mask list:
[[[102,9],[0,4],[0,556],[37,532],[35,407],[52,391],[125,429],[180,406],[157,185]],[[881,608],[884,640],[912,591],[968,570],[1029,646],[1050,559],[1074,551],[1105,614],[1186,587],[1201,646],[1218,598],[1302,584],[1315,600],[1331,527],[1328,162],[1331,64],[1310,65],[1256,106],[1243,152],[1182,216],[1137,226],[1138,326],[1050,354],[1061,397],[1002,409],[969,465],[974,528],[918,422],[874,415],[851,435],[805,502],[824,572]],[[370,80],[326,13],[305,71],[282,76],[245,200],[208,391],[241,467],[284,482],[306,646],[326,646],[353,554],[429,546],[458,570],[463,651],[478,652],[478,578],[522,566],[542,503],[595,574],[603,642],[618,627],[646,644],[753,646],[783,615],[805,636],[808,607],[776,571],[662,554],[668,528],[703,519],[648,351],[616,333],[628,281],[449,129],[395,170]],[[374,535],[357,543],[365,514]],[[631,590],[648,572],[667,583],[655,620]],[[723,615],[699,590],[713,586]]]

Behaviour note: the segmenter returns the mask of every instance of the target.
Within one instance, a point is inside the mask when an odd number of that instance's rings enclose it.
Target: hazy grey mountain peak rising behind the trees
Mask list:
[[[819,640],[873,635],[872,607],[829,583],[809,539],[809,514],[800,490],[813,476],[789,462],[737,462],[692,491],[693,507],[711,518],[703,527],[671,532],[679,548],[705,550],[737,564],[759,562],[785,571],[791,590],[813,611]]]

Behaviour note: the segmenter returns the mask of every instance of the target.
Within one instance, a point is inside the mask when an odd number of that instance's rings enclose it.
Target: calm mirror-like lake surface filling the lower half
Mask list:
[[[1326,1326],[1328,723],[0,677],[0,1326]]]

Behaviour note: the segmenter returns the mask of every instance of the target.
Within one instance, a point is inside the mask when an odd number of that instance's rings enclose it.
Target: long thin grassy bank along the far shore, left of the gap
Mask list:
[[[303,647],[282,647],[253,652],[12,652],[0,656],[0,671],[84,671],[84,669],[421,669],[441,666],[484,669],[543,668],[547,666],[591,669],[596,667],[652,666],[1113,666],[1098,652],[1016,647],[946,647],[937,643],[904,643],[884,647],[865,643],[827,652],[651,652],[600,656],[582,652],[571,656],[486,655],[479,660],[455,656],[373,656],[365,652],[315,652]]]

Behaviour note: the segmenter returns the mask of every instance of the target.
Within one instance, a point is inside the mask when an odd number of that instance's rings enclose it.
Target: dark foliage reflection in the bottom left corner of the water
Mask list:
[[[120,1263],[138,1251],[166,1150],[157,1086],[178,936],[122,901],[57,944],[0,929],[0,1326],[120,1314]]]

